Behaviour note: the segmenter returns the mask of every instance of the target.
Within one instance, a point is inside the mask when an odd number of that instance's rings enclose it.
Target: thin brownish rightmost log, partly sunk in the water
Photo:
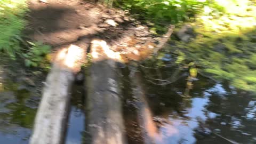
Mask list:
[[[153,121],[151,110],[147,102],[141,75],[135,72],[133,75],[130,75],[130,79],[132,81],[134,97],[137,100],[138,122],[141,127],[143,141],[145,144],[155,144],[157,143],[157,127]]]

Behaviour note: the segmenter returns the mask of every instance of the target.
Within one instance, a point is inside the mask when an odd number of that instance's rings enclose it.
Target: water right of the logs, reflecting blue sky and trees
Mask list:
[[[166,87],[148,87],[155,116],[169,121],[159,127],[159,143],[256,142],[253,95],[203,77],[193,82],[191,98],[181,97],[185,90],[185,79]]]

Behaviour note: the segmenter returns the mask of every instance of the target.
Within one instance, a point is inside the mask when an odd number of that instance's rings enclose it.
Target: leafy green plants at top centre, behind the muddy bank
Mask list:
[[[214,11],[221,12],[221,6],[214,1],[196,0],[124,0],[117,3],[123,9],[137,14],[140,20],[151,23],[158,33],[163,33],[164,26],[170,23],[188,21],[196,14],[202,13],[205,6],[213,6]],[[139,15],[138,15],[139,14]],[[136,16],[136,15],[135,15]]]

